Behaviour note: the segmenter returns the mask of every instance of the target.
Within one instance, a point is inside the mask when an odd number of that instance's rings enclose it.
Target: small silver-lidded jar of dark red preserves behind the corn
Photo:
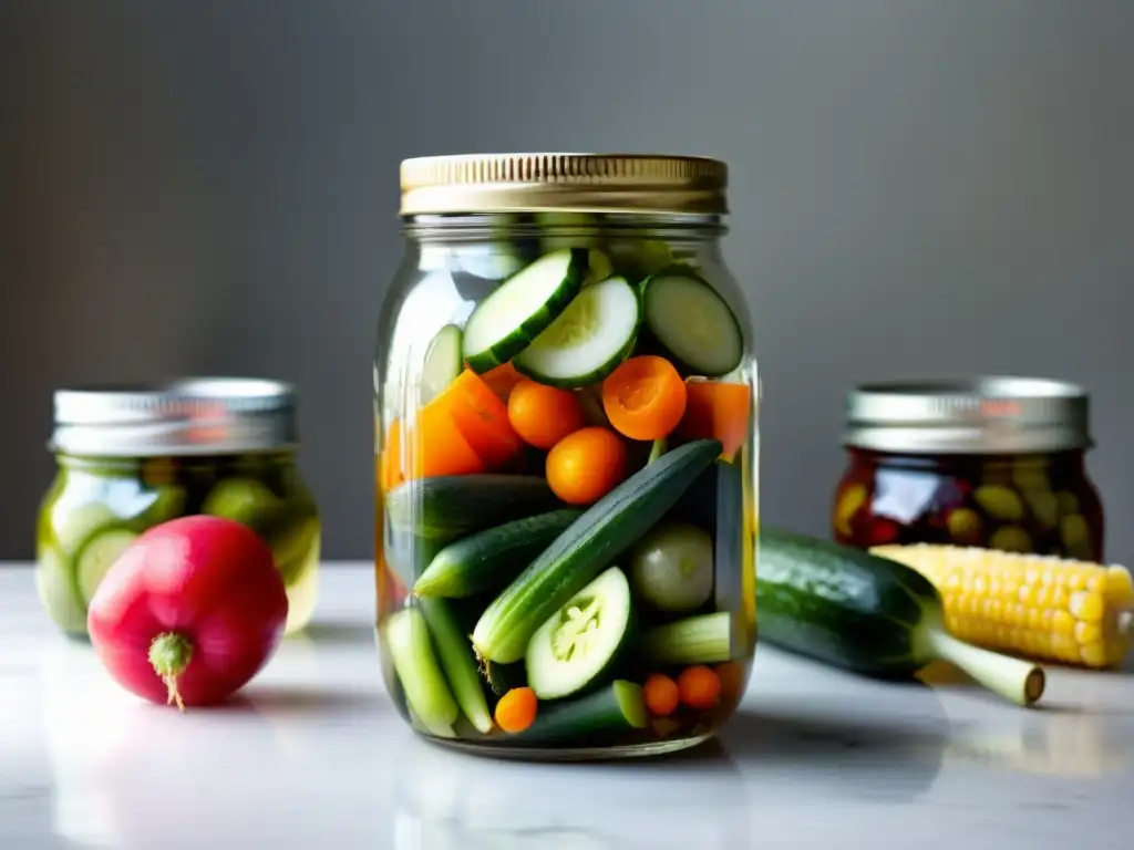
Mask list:
[[[1086,392],[1026,377],[870,383],[847,397],[836,541],[1103,560]]]

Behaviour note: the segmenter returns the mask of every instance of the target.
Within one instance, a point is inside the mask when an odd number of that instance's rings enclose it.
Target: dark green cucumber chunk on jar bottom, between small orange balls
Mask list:
[[[585,747],[645,729],[648,720],[642,688],[616,679],[585,697],[541,705],[531,726],[499,740],[525,746],[570,743]]]

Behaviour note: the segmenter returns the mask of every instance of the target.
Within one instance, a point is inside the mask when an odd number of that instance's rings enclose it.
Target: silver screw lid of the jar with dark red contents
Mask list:
[[[844,445],[915,454],[1089,449],[1088,393],[1034,377],[861,384],[847,393]]]

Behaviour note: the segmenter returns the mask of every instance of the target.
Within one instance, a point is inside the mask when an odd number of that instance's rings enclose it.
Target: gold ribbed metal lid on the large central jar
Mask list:
[[[728,167],[703,156],[489,153],[401,163],[401,215],[477,212],[723,215]]]

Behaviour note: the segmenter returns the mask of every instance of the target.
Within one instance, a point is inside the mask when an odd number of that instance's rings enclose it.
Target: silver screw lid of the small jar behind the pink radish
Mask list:
[[[192,377],[57,390],[49,449],[94,457],[231,454],[294,448],[290,384]]]

